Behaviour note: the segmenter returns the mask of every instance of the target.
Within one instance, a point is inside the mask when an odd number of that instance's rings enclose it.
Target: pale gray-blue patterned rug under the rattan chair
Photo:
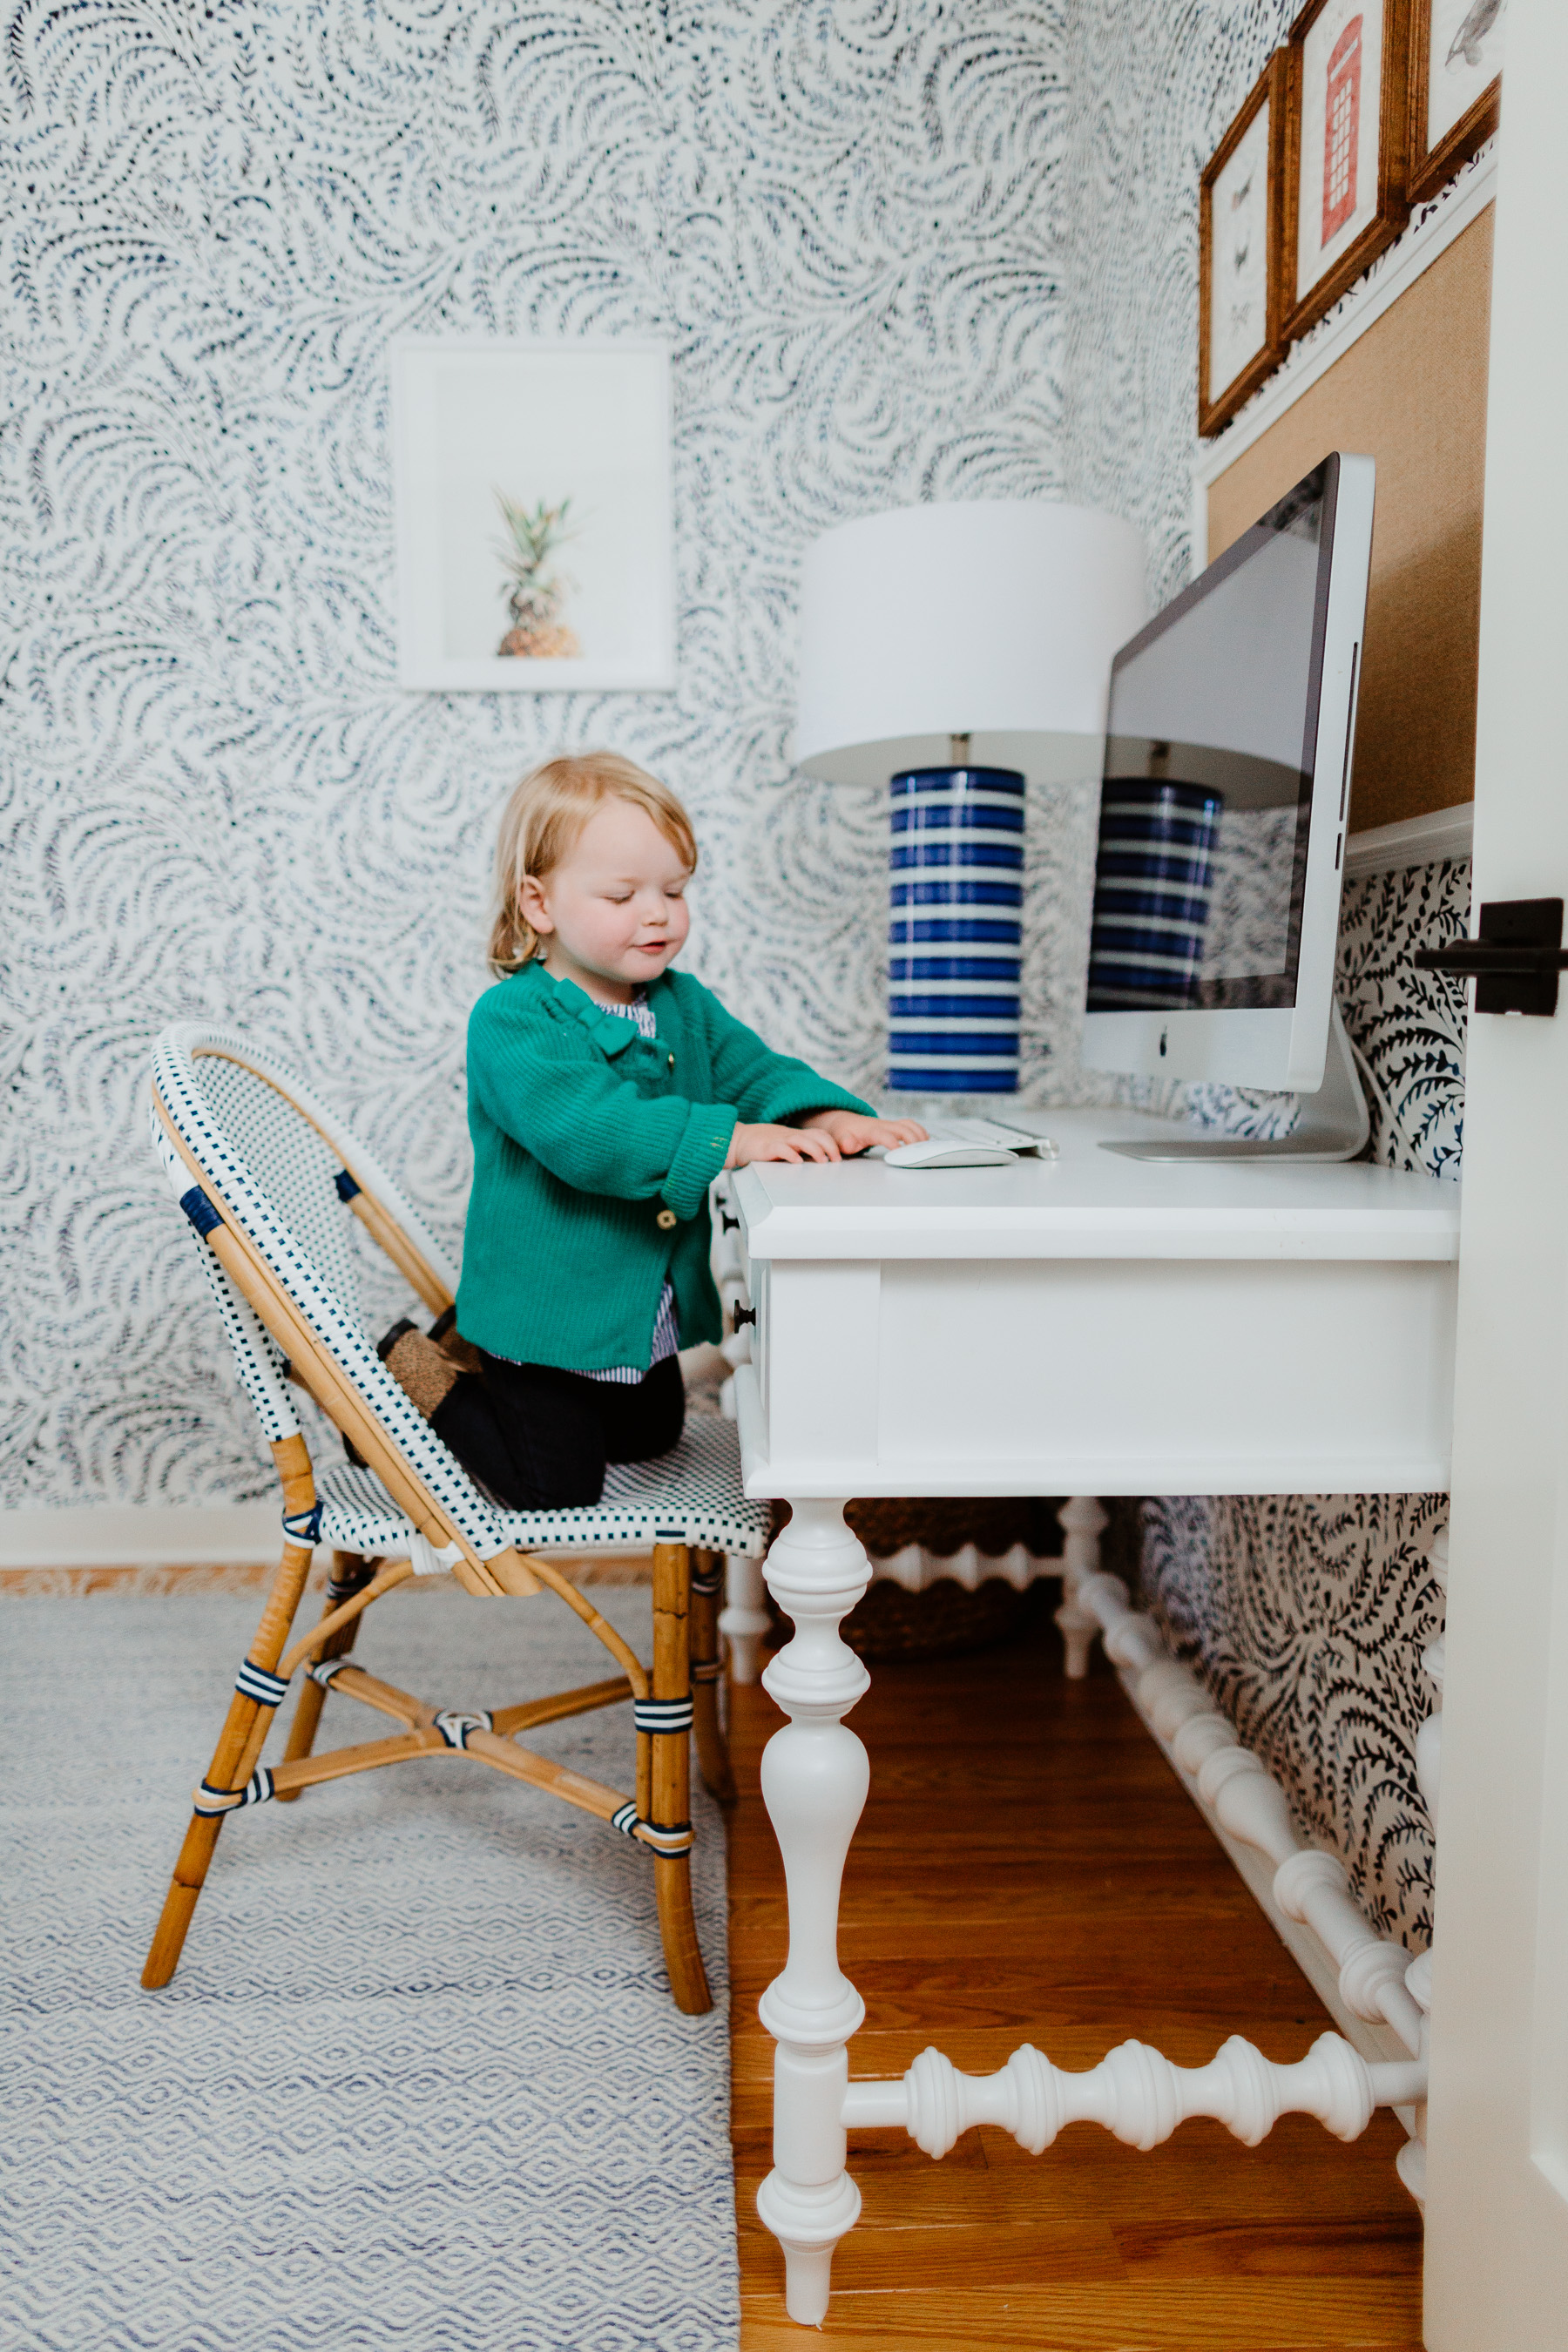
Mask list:
[[[595,1599],[649,1656],[646,1590]],[[456,1757],[228,1823],[174,1983],[139,1990],[256,1609],[0,1604],[7,2352],[729,2352],[724,1849],[701,1790],[705,2018],[665,1992],[646,1856]],[[447,1705],[602,1661],[548,1597],[447,1585],[381,1602],[364,1639]],[[322,1745],[383,1731],[329,1698]],[[531,1738],[630,1788],[630,1710]]]

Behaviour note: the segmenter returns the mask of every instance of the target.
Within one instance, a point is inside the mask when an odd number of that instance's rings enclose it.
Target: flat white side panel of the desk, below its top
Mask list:
[[[1420,1258],[776,1261],[748,1475],[762,1494],[1443,1489],[1455,1289]]]

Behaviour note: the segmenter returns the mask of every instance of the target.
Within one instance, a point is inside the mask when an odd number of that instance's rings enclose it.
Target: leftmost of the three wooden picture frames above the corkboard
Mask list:
[[[1276,49],[1199,179],[1199,435],[1204,437],[1227,426],[1286,355],[1286,339],[1279,332],[1284,158],[1286,54]],[[1244,282],[1244,308],[1248,313],[1258,308],[1255,341],[1251,318],[1244,322],[1234,303],[1237,280]],[[1220,303],[1229,308],[1218,308]],[[1215,381],[1227,360],[1225,381]]]

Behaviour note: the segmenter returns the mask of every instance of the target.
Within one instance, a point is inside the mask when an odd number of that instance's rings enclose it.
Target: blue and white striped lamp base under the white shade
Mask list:
[[[893,776],[889,1089],[1016,1094],[1023,953],[1023,776]]]

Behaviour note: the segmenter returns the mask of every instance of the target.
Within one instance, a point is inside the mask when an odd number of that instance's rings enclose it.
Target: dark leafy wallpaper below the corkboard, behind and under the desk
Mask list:
[[[1345,889],[1338,993],[1385,1167],[1458,1176],[1465,995],[1410,950],[1469,929],[1469,866],[1415,866]],[[1197,1091],[1197,1089],[1194,1089]],[[1267,1134],[1267,1096],[1206,1089],[1232,1134]],[[1441,1630],[1427,1569],[1446,1496],[1159,1498],[1143,1508],[1145,1599],[1244,1740],[1338,1851],[1368,1919],[1432,1940],[1432,1825],[1415,1733],[1420,1653]]]

